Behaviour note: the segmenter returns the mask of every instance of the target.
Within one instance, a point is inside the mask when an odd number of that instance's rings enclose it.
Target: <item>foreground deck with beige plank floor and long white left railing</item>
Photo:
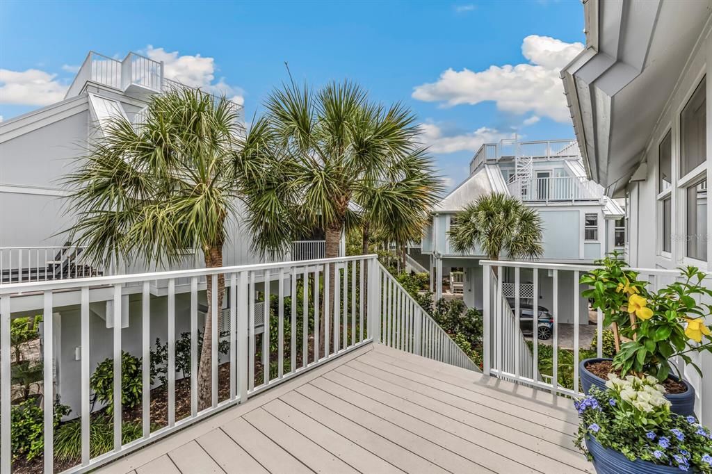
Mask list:
[[[211,396],[209,406],[199,409],[195,364],[204,293],[198,283],[212,285],[216,298],[219,274],[229,295],[229,349],[219,356],[214,304]],[[187,290],[179,292],[179,279],[191,282]],[[157,280],[168,288],[159,297],[150,294]],[[108,342],[95,339],[93,306],[112,301],[118,320],[127,289],[133,292],[130,327],[113,325]],[[593,472],[572,445],[577,415],[570,400],[482,374],[375,256],[0,287],[2,472],[11,471],[11,310],[31,299],[43,316],[43,387],[54,386],[53,358],[60,357],[53,322],[67,308],[76,314],[72,332],[81,343],[73,363],[80,379],[64,389],[80,399],[75,423],[81,458],[68,472]],[[264,333],[271,335],[266,338],[255,331],[255,313],[259,302],[270,300],[272,305],[264,305]],[[169,370],[166,385],[151,390],[152,331],[174,335],[186,322],[190,376],[180,379]],[[90,451],[96,421],[90,356],[108,351],[116,360],[122,350],[142,354],[140,410],[122,410],[122,384],[113,385],[113,449],[96,455]],[[177,342],[170,336],[167,358],[174,368]],[[122,364],[113,364],[113,379],[122,380]],[[152,400],[158,394],[165,404],[156,413]],[[41,403],[51,426],[53,397]],[[120,421],[137,423],[138,437],[125,440]],[[46,472],[56,467],[53,439],[54,431],[45,431]]]

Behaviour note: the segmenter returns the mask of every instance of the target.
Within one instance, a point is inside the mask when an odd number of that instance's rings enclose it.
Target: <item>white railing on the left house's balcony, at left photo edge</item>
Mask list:
[[[0,285],[103,275],[89,265],[83,247],[0,247]]]

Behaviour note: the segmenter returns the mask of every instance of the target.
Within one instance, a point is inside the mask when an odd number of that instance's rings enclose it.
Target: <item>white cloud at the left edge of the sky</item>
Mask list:
[[[49,105],[64,99],[68,86],[43,70],[0,69],[0,104]]]

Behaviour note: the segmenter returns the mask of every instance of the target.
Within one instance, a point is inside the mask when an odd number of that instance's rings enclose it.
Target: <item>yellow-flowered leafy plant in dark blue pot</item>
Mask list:
[[[580,362],[584,393],[591,386],[603,388],[609,372],[619,376],[651,375],[664,386],[672,411],[692,414],[694,389],[670,360],[680,357],[702,376],[689,354],[712,352],[711,331],[704,323],[712,307],[696,301],[712,296],[712,290],[702,284],[706,274],[695,267],[680,268],[683,281],[653,292],[617,254],[597,263],[602,266],[580,279],[580,283],[592,287],[582,294],[591,298],[592,307],[602,310],[603,324],[612,328],[617,354],[613,359]]]

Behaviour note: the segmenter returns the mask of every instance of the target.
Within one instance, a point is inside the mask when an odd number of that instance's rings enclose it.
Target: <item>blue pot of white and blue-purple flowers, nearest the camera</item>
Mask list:
[[[574,406],[576,446],[598,474],[712,473],[712,433],[694,416],[671,413],[653,376],[610,374],[605,390],[593,387]]]

